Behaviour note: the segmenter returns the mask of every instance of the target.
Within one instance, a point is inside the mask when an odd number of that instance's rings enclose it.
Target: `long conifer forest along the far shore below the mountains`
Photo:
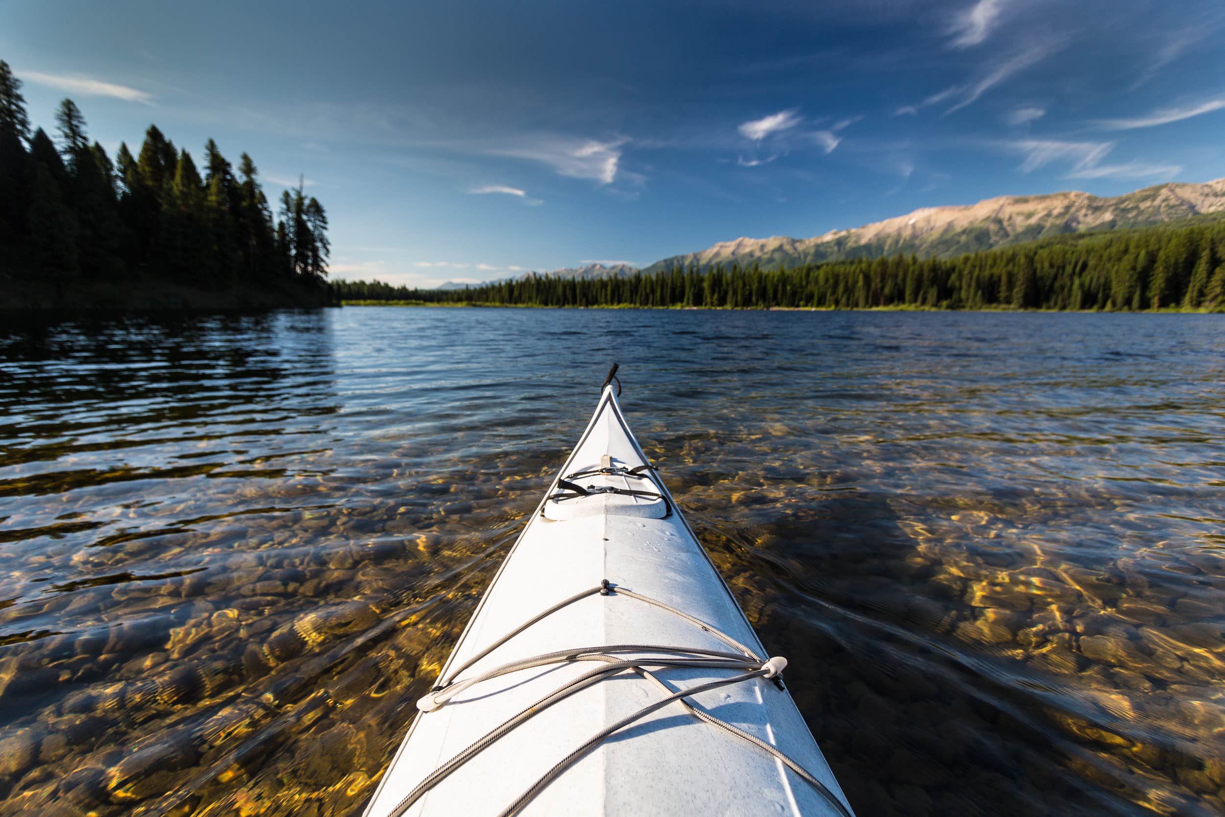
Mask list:
[[[334,282],[338,300],[713,309],[1225,310],[1225,220],[1083,233],[952,258],[893,256],[621,278],[532,274],[466,289]]]

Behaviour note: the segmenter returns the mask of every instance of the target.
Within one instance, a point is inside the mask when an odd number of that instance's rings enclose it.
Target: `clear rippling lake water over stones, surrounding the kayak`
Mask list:
[[[861,817],[1225,811],[1225,318],[0,328],[0,813],[355,815],[612,359]]]

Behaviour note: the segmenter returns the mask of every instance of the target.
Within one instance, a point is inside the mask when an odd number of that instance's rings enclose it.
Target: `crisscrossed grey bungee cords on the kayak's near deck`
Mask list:
[[[710,633],[719,641],[724,642],[729,647],[734,647],[740,652],[730,653],[723,650],[706,649],[701,647],[673,647],[673,646],[660,646],[660,644],[608,644],[603,647],[578,647],[571,649],[561,649],[550,653],[544,653],[540,655],[532,655],[529,658],[521,658],[500,666],[495,666],[486,670],[479,675],[469,679],[457,680],[457,676],[464,670],[469,669],[473,664],[485,658],[492,653],[499,647],[502,647],[512,638],[528,630],[533,625],[543,621],[554,612],[562,610],[576,601],[581,601],[592,595],[601,597],[615,597],[625,595],[631,599],[638,599],[646,604],[654,605],[666,612],[676,615],[685,621],[699,627],[704,632]],[[612,653],[664,653],[665,657],[644,657],[633,659],[619,659],[612,655]],[[567,768],[577,763],[592,750],[599,746],[609,736],[615,732],[642,720],[647,715],[663,709],[673,702],[679,702],[685,709],[698,718],[699,720],[708,723],[713,726],[718,726],[728,731],[736,737],[740,737],[752,746],[772,755],[774,758],[780,761],[784,766],[796,773],[805,783],[811,785],[817,794],[820,794],[842,817],[853,817],[850,811],[843,806],[842,801],[826,786],[824,783],[818,780],[816,775],[810,773],[807,769],[801,767],[788,755],[785,755],[777,746],[771,746],[766,741],[750,735],[748,732],[733,726],[725,720],[715,718],[708,712],[704,712],[693,704],[691,704],[685,698],[698,695],[701,692],[708,692],[710,690],[717,690],[719,687],[731,686],[735,683],[744,683],[746,681],[752,681],[753,679],[763,677],[774,681],[774,683],[782,690],[783,687],[783,670],[786,668],[786,659],[782,657],[773,657],[769,659],[762,659],[748,647],[745,647],[731,636],[726,634],[718,627],[708,625],[695,616],[688,615],[684,610],[677,610],[676,608],[665,604],[658,599],[653,599],[633,590],[628,590],[622,587],[612,584],[608,579],[601,581],[593,588],[576,593],[575,595],[565,599],[551,608],[544,610],[543,612],[529,619],[527,622],[519,625],[511,632],[506,633],[490,646],[485,647],[483,650],[469,658],[461,666],[450,671],[446,677],[441,679],[434,688],[430,690],[428,695],[421,697],[417,702],[418,709],[421,713],[435,712],[436,709],[446,706],[454,696],[459,695],[464,690],[468,690],[483,681],[488,681],[510,672],[517,672],[521,670],[533,669],[537,666],[545,666],[549,664],[565,664],[572,661],[603,661],[604,666],[598,666],[595,669],[588,670],[576,679],[567,681],[562,686],[557,687],[549,695],[544,696],[532,706],[524,708],[518,714],[505,720],[500,725],[495,726],[492,730],[479,737],[466,750],[452,757],[450,761],[436,768],[429,775],[425,777],[417,786],[404,796],[390,812],[388,817],[402,817],[414,802],[417,802],[423,795],[425,795],[430,789],[436,786],[443,779],[446,779],[451,773],[456,772],[467,763],[469,759],[475,757],[479,752],[488,748],[495,741],[510,734],[513,729],[523,723],[527,723],[532,717],[539,714],[540,712],[548,709],[552,704],[584,690],[599,681],[612,677],[625,671],[633,671],[648,681],[653,682],[666,697],[660,698],[653,703],[642,707],[637,712],[626,715],[625,718],[617,720],[616,723],[601,729],[595,735],[592,735],[584,744],[578,748],[572,751],[570,755],[559,761],[552,768],[545,772],[535,783],[533,783],[522,795],[519,795],[510,806],[499,813],[499,817],[512,817],[519,813],[524,806],[527,806],[550,781],[552,781],[557,775],[565,772]],[[652,670],[660,670],[668,668],[703,668],[703,669],[739,669],[745,670],[740,675],[735,675],[726,679],[719,679],[715,681],[708,681],[706,683],[698,683],[691,687],[673,690],[665,681],[657,676]]]

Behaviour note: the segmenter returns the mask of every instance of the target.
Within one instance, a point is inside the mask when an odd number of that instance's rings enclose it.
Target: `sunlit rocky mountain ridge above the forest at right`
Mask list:
[[[764,268],[780,268],[911,252],[920,257],[947,257],[1047,235],[1144,227],[1215,212],[1225,212],[1225,179],[1156,185],[1114,198],[1079,191],[998,196],[976,205],[924,207],[907,216],[856,229],[831,230],[811,239],[741,238],[657,261],[643,272],[675,266],[696,265],[706,269],[755,262]]]

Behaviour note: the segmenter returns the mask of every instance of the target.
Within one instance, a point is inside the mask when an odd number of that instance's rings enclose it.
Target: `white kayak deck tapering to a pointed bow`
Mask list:
[[[595,415],[561,474],[599,469],[601,464],[626,470],[649,464],[625,423],[611,387],[605,388]],[[633,478],[620,473],[593,474],[575,481],[583,486],[636,490],[643,496],[593,492],[560,500],[546,496],[541,501],[481,599],[443,669],[443,677],[450,668],[463,666],[541,611],[604,579],[677,608],[766,657],[663,483],[650,470],[641,473],[642,476]],[[550,496],[557,494],[565,491],[555,483]],[[538,621],[466,668],[459,679],[516,659],[614,644],[729,649],[712,632],[614,592],[588,595]],[[518,670],[464,688],[445,706],[420,713],[380,781],[366,817],[393,815],[405,795],[437,767],[592,669],[590,661],[577,661]],[[736,671],[702,666],[668,668],[654,674],[673,690],[680,690],[726,679]],[[658,686],[628,672],[582,688],[539,710],[468,759],[404,813],[499,815],[594,734],[662,697],[665,693]],[[780,686],[755,677],[697,693],[687,701],[777,746],[845,805],[807,725]],[[780,761],[702,723],[679,702],[609,736],[549,783],[522,813],[638,817],[707,812],[840,813]]]

